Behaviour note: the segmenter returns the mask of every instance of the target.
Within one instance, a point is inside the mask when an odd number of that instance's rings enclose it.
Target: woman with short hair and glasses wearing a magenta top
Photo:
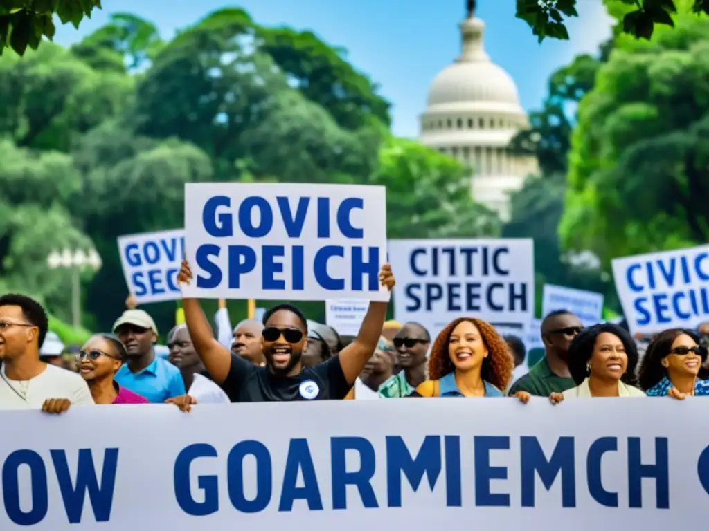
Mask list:
[[[76,355],[79,373],[89,384],[96,404],[150,404],[140,394],[120,387],[113,377],[128,360],[121,340],[111,333],[98,333]]]

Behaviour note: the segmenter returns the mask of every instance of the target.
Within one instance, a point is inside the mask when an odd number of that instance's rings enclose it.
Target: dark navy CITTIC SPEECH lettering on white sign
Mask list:
[[[527,312],[530,287],[525,282],[510,279],[509,265],[508,246],[413,249],[409,254],[409,268],[422,280],[404,287],[406,311]],[[435,280],[441,275],[450,280]],[[490,280],[464,282],[455,277]]]

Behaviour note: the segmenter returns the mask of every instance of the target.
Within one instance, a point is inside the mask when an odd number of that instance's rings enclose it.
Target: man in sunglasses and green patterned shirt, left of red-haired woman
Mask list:
[[[413,393],[426,380],[426,353],[431,336],[422,325],[406,323],[393,338],[401,371],[379,387],[383,398],[401,398]]]

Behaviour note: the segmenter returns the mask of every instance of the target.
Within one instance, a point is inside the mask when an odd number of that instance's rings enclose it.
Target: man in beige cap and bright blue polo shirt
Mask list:
[[[128,352],[128,363],[121,365],[113,378],[118,385],[140,394],[152,404],[185,394],[177,367],[155,356],[157,326],[141,309],[127,309],[113,324],[113,333]]]

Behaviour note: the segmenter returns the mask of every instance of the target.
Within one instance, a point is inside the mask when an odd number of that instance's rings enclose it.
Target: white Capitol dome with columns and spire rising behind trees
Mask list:
[[[474,6],[468,2],[468,16],[459,25],[460,55],[430,85],[419,141],[471,166],[474,200],[507,219],[510,193],[537,172],[537,163],[507,150],[529,120],[512,76],[484,50],[485,23]]]

